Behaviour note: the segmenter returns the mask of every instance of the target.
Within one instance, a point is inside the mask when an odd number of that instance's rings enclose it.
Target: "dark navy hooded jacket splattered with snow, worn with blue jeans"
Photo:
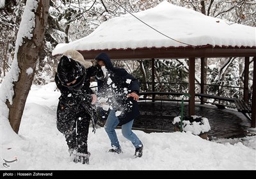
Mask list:
[[[95,58],[102,60],[106,64],[108,77],[97,79],[99,95],[108,98],[108,103],[116,111],[122,113],[118,116],[119,125],[123,125],[131,120],[138,118],[140,111],[138,102],[132,97],[127,98],[129,93],[140,91],[140,83],[129,74],[124,68],[114,67],[108,54],[102,52]]]

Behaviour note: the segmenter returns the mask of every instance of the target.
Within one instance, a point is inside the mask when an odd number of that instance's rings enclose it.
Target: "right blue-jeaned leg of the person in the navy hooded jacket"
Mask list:
[[[122,125],[122,134],[123,136],[132,142],[135,148],[140,148],[142,146],[142,143],[140,139],[132,132],[132,124],[134,120],[129,121],[128,123],[125,123]]]

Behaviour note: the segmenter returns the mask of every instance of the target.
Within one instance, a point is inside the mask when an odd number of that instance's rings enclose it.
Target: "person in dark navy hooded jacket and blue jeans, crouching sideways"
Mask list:
[[[135,147],[136,157],[142,156],[143,144],[134,132],[133,121],[138,118],[140,83],[124,68],[114,67],[108,54],[100,53],[96,56],[97,64],[102,66],[103,79],[97,79],[99,102],[104,110],[109,110],[104,128],[114,147],[109,152],[121,153],[122,148],[116,136],[116,126],[122,125],[122,135],[129,139]]]

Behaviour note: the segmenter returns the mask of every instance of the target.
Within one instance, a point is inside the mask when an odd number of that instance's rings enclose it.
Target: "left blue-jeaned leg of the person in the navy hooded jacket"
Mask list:
[[[109,112],[108,118],[106,120],[106,123],[104,125],[104,128],[108,134],[108,137],[111,141],[111,146],[115,146],[116,148],[120,147],[118,138],[116,136],[115,128],[118,125],[119,120],[115,115],[115,111],[111,110]]]

